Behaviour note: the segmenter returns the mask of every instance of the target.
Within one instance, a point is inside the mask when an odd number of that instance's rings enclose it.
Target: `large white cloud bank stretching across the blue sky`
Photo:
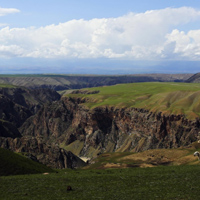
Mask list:
[[[193,21],[200,22],[200,11],[182,7],[40,28],[5,27],[0,56],[199,60],[200,30],[178,30]]]

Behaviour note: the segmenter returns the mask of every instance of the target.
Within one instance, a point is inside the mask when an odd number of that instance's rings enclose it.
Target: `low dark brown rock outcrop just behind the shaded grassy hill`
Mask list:
[[[85,166],[85,162],[70,151],[58,147],[58,145],[47,145],[39,138],[3,138],[0,137],[0,147],[20,152],[27,157],[45,164],[51,168],[78,168]]]

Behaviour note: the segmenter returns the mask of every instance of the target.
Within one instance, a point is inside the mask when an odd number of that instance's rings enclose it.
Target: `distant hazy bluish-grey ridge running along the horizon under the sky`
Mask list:
[[[53,90],[80,89],[134,82],[185,82],[193,74],[134,75],[1,75],[0,84]]]

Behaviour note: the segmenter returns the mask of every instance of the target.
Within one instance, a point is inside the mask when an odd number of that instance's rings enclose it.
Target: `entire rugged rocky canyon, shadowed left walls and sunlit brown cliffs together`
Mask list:
[[[49,88],[2,87],[0,147],[52,168],[74,169],[86,166],[80,157],[188,147],[199,139],[198,117],[136,107],[89,108],[87,101]]]

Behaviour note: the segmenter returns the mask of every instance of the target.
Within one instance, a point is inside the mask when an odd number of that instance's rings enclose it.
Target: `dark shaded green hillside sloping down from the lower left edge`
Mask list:
[[[12,151],[0,148],[0,176],[44,172],[54,172],[54,170]]]

